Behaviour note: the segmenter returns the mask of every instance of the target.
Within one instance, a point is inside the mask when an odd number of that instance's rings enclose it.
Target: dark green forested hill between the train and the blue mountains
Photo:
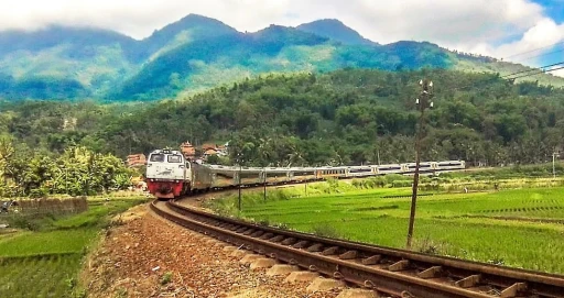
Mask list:
[[[3,103],[0,132],[45,152],[79,144],[124,156],[189,140],[229,141],[247,165],[408,162],[423,77],[436,93],[424,159],[540,163],[564,144],[563,89],[441,69],[270,75],[156,103]]]

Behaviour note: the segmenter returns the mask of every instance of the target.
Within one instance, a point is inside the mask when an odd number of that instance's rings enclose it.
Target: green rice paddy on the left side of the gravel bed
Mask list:
[[[0,234],[0,297],[84,297],[77,287],[84,256],[112,214],[144,201],[89,200],[89,210],[80,214],[10,219],[24,230]]]

